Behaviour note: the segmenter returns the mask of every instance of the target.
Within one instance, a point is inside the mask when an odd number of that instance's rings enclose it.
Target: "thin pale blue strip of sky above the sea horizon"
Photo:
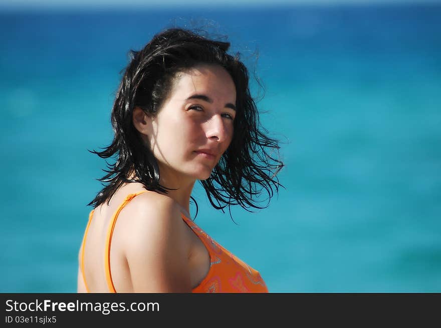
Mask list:
[[[441,0],[209,0],[212,5],[277,5],[277,4],[399,4],[441,3]],[[205,5],[206,0],[2,0],[0,7],[97,7],[97,6],[172,6]]]

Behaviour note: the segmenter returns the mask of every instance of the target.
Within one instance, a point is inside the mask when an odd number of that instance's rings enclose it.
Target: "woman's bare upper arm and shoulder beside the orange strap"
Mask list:
[[[131,212],[124,249],[133,291],[191,292],[188,247],[178,207],[168,197],[139,199]]]

